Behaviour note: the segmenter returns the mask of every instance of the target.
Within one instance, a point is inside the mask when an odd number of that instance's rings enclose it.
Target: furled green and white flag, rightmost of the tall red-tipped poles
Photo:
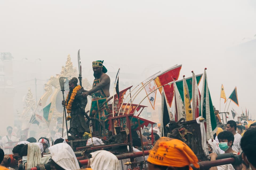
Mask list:
[[[213,102],[211,101],[211,95],[207,83],[206,70],[203,75],[203,87],[201,91],[201,102],[199,116],[203,116],[206,119],[206,138],[214,139],[213,134],[217,131],[217,123],[214,114]]]

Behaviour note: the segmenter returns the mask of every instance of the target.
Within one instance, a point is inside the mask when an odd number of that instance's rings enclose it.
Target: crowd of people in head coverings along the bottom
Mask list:
[[[221,154],[241,155],[242,162],[219,165],[211,167],[211,170],[246,170],[256,169],[256,124],[250,124],[249,128],[243,130],[235,121],[228,121],[226,129],[218,128],[215,134],[215,140],[209,139],[208,150],[210,161],[216,161]],[[12,128],[7,127],[6,136],[15,141],[11,135]],[[153,131],[154,142],[152,140],[151,131]],[[199,168],[198,158],[194,152],[184,142],[178,139],[161,137],[159,128],[154,125],[153,129],[144,128],[142,141],[147,146],[152,145],[149,155],[145,157],[148,169],[179,169],[190,170]],[[241,135],[242,134],[242,135]],[[6,143],[6,138],[2,141]],[[134,152],[141,151],[141,143],[136,140],[139,135],[134,135]],[[7,142],[9,141],[7,138]],[[95,139],[96,140],[96,139]],[[140,139],[139,139],[140,140]],[[140,140],[141,141],[141,140]],[[2,142],[2,143],[3,143]],[[98,145],[102,143],[99,142]],[[97,144],[95,144],[97,145]],[[64,138],[54,140],[52,146],[46,137],[41,137],[38,140],[30,137],[26,141],[18,142],[12,149],[12,154],[4,154],[4,148],[0,149],[0,169],[83,169],[82,164],[77,160],[73,149],[67,144]],[[123,169],[125,166],[117,157],[109,151],[99,150],[91,152],[87,155],[89,160],[85,169]],[[136,160],[136,159],[135,159]],[[142,159],[137,159],[143,161]],[[48,166],[48,167],[47,167]],[[191,167],[192,166],[192,167]]]

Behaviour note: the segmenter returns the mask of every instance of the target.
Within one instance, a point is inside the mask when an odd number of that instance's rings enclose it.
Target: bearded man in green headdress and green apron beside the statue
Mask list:
[[[103,60],[104,61],[104,60]],[[84,90],[82,93],[83,97],[91,95],[91,109],[90,117],[98,118],[99,120],[107,120],[107,103],[106,107],[99,110],[103,107],[103,103],[110,96],[109,87],[110,87],[110,78],[107,74],[107,69],[103,66],[103,61],[93,61],[93,75],[95,77],[93,81],[93,88],[89,91]],[[98,111],[99,110],[99,111]],[[98,113],[97,113],[98,111]],[[97,113],[97,114],[96,114]]]

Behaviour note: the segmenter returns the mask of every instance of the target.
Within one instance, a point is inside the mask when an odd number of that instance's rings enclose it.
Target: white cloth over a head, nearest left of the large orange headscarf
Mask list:
[[[119,170],[120,164],[117,157],[109,151],[100,150],[90,153],[91,169]]]

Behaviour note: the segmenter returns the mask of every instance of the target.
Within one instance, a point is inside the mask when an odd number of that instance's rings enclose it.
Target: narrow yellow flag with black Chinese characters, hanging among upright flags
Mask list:
[[[187,81],[183,77],[183,92],[184,92],[184,107],[186,112],[186,121],[193,120],[193,112],[190,103],[189,88],[187,87]]]

